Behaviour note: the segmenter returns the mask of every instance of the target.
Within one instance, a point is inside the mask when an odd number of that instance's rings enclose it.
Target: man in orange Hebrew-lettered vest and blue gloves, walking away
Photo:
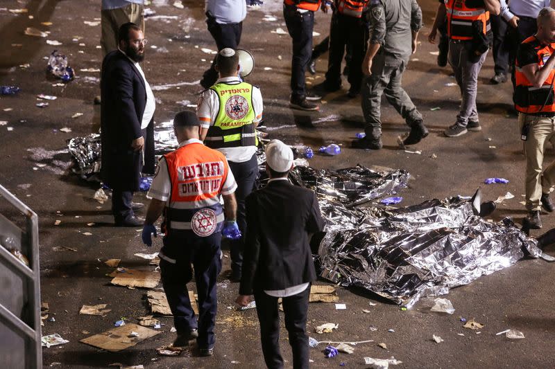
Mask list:
[[[177,150],[160,159],[148,197],[152,197],[144,222],[142,240],[151,246],[154,223],[164,215],[158,253],[162,286],[173,314],[182,347],[196,339],[200,356],[214,350],[216,278],[221,271],[221,231],[237,230],[237,188],[228,161],[221,152],[198,139],[200,123],[193,111],[181,111],[173,119]],[[222,208],[220,195],[223,196]],[[225,226],[224,226],[225,214]],[[187,283],[194,277],[198,294],[198,322],[191,308]]]

